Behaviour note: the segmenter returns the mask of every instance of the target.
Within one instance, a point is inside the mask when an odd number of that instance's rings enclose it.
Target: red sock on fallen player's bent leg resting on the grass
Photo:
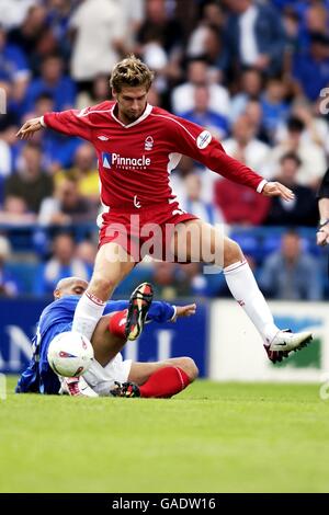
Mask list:
[[[169,398],[184,390],[190,382],[190,377],[180,367],[159,368],[139,387],[140,397]]]

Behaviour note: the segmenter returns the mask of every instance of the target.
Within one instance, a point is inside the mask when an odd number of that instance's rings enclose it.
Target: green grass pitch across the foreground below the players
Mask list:
[[[9,393],[0,491],[329,492],[318,392],[197,381],[171,400]]]

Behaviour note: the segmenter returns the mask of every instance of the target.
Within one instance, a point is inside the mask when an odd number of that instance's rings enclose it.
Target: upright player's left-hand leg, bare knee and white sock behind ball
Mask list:
[[[76,309],[72,331],[91,340],[106,300],[134,266],[133,258],[120,244],[110,242],[100,248],[89,287]]]

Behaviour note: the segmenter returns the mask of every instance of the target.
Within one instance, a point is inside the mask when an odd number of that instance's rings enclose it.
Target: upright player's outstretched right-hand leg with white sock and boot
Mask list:
[[[185,237],[186,229],[194,231],[193,238],[189,234]],[[197,234],[200,244],[195,245]],[[178,226],[172,244],[177,256],[186,253],[192,261],[200,259],[223,266],[230,293],[260,332],[264,345],[270,351],[268,352],[270,359],[277,360],[275,359],[277,352],[284,353],[280,354],[281,357],[286,357],[288,352],[297,351],[311,341],[309,332],[292,333],[275,325],[270,308],[238,243],[225,236],[218,237],[216,229],[202,220],[191,220]],[[207,254],[209,260],[205,260]]]

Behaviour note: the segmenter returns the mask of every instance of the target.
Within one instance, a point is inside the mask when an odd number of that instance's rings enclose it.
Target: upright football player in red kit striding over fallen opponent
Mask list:
[[[46,113],[27,121],[18,133],[27,139],[42,127],[49,127],[91,141],[98,154],[104,206],[100,248],[89,288],[77,306],[72,330],[91,339],[105,301],[143,259],[141,248],[152,240],[150,230],[144,230],[151,224],[155,232],[160,230],[160,237],[158,231],[155,240],[155,256],[159,256],[160,249],[167,260],[171,250],[178,261],[222,262],[227,285],[260,332],[270,359],[281,359],[305,346],[311,334],[292,333],[275,325],[240,247],[227,237],[218,242],[215,228],[181,210],[169,174],[181,154],[186,154],[259,194],[284,201],[291,201],[294,194],[279,182],[266,182],[227,156],[204,128],[149,105],[147,93],[152,79],[148,67],[129,56],[112,71],[114,101],[82,111]],[[203,249],[211,249],[209,258],[201,255]],[[138,328],[134,325],[131,330],[134,340]]]

